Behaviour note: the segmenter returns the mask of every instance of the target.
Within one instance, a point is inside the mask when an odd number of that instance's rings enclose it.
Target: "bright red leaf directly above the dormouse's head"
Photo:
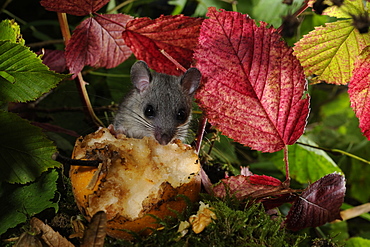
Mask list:
[[[203,19],[183,15],[161,16],[155,20],[137,18],[127,23],[123,38],[139,60],[160,73],[179,75],[177,67],[165,57],[167,52],[184,68],[192,62]]]

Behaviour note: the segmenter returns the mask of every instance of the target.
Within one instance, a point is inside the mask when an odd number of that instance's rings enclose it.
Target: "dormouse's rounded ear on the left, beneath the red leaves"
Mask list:
[[[131,67],[131,82],[142,93],[149,86],[152,74],[144,61],[137,61]]]

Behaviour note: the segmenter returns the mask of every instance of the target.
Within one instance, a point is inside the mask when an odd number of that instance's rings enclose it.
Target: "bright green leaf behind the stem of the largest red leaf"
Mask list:
[[[317,146],[305,136],[302,136],[298,142]],[[290,176],[302,184],[315,182],[333,172],[343,174],[329,155],[322,150],[294,144],[288,147],[288,151]],[[271,161],[284,172],[283,157],[283,152],[280,151],[273,156]]]

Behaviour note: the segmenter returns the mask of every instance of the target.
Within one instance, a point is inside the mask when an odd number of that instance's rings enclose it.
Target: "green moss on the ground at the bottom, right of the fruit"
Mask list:
[[[189,229],[180,237],[177,232],[181,220],[188,219],[186,212],[180,219],[160,221],[163,229],[156,230],[148,237],[136,235],[135,241],[111,242],[111,246],[298,246],[305,235],[292,234],[281,227],[282,217],[271,219],[262,205],[252,204],[242,207],[234,200],[220,201],[218,199],[203,201],[209,204],[217,219],[199,234]],[[193,211],[193,214],[196,212]],[[181,219],[182,218],[182,219]],[[109,242],[109,241],[107,241]],[[106,242],[106,243],[107,243]]]

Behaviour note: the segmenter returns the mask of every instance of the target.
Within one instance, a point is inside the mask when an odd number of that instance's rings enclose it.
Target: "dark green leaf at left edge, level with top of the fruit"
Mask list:
[[[57,150],[41,129],[9,112],[0,112],[0,182],[28,183],[60,164]]]

